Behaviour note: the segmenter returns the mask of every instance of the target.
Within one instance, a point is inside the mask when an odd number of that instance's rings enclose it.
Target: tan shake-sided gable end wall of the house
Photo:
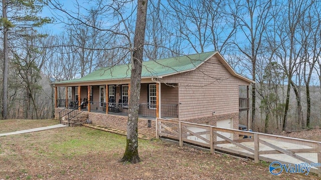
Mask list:
[[[167,83],[179,84],[180,120],[238,113],[239,85],[248,85],[211,57],[194,71],[164,77]],[[163,94],[162,94],[163,95]]]

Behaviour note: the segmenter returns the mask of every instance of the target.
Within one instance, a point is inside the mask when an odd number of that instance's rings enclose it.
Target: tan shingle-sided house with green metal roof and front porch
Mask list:
[[[110,121],[110,125],[118,123],[119,118],[126,119],[130,68],[130,64],[105,67],[79,79],[54,83],[56,111],[88,101],[78,108],[88,111],[93,123],[104,125]],[[251,83],[254,82],[237,74],[218,52],[146,61],[141,73],[139,118],[238,129],[239,112],[249,110],[248,91],[247,98],[239,98],[239,87]],[[61,87],[71,89],[71,93],[58,99]]]

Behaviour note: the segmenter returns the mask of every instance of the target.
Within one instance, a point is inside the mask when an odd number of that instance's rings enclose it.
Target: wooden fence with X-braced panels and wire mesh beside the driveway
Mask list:
[[[220,128],[190,122],[156,118],[156,138],[167,137],[183,143],[220,150],[254,159],[281,163],[313,163],[310,172],[321,177],[321,142],[292,137]],[[243,138],[248,137],[248,138]]]

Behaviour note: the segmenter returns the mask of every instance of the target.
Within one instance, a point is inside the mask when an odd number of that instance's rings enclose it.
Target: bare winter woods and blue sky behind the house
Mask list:
[[[50,118],[50,78],[74,79],[128,63],[135,8],[132,1],[3,0],[2,117],[7,102],[5,118]],[[250,87],[254,131],[316,128],[320,26],[320,1],[154,0],[147,7],[144,61],[219,51],[256,82]]]

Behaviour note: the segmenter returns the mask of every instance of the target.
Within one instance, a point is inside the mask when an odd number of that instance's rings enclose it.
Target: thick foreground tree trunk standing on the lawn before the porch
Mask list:
[[[121,162],[137,163],[138,156],[138,108],[140,94],[141,64],[146,27],[148,0],[137,1],[137,19],[134,36],[133,54],[131,57],[129,113],[127,121],[127,143]]]

